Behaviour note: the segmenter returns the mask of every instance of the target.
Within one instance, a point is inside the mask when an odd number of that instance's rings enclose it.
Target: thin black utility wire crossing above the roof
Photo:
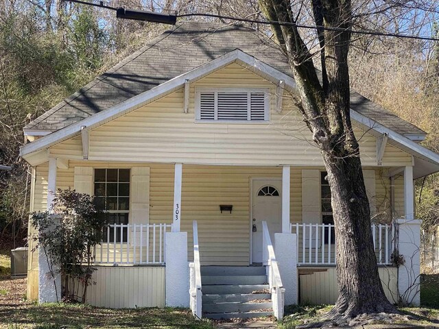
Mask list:
[[[81,1],[81,0],[62,0],[62,1],[80,3],[83,5],[92,5],[93,7],[105,8],[108,10],[117,10],[117,8],[111,7],[109,5],[104,5],[104,1],[99,1],[99,4]],[[343,27],[325,27],[325,26],[321,26],[321,25],[302,25],[302,24],[297,24],[297,23],[292,23],[292,22],[261,21],[261,20],[255,20],[255,19],[242,19],[239,17],[223,16],[223,15],[217,15],[217,14],[193,13],[193,14],[176,15],[177,18],[194,17],[194,16],[211,17],[211,18],[215,18],[215,19],[230,19],[232,21],[239,21],[239,22],[246,22],[246,23],[259,23],[259,24],[265,24],[265,25],[295,26],[295,27],[299,27],[302,29],[322,29],[322,30],[334,31],[334,32],[351,32],[353,34],[363,34],[363,35],[368,35],[368,36],[390,36],[393,38],[439,41],[439,38],[433,38],[430,36],[409,36],[407,34],[398,34],[398,33],[384,33],[384,32],[373,32],[373,31],[351,30],[351,29],[345,29]]]

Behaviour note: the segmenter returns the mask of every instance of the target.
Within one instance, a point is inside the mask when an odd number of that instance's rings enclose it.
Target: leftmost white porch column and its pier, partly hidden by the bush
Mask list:
[[[47,177],[47,210],[51,210],[56,192],[56,158],[49,158],[49,175]],[[59,220],[53,216],[54,224]],[[48,228],[47,230],[51,230]],[[38,247],[38,302],[60,302],[61,275],[58,267],[51,267],[45,249]]]

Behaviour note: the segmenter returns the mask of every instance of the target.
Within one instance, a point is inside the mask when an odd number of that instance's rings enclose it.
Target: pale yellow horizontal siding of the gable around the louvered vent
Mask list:
[[[268,123],[195,123],[197,87],[270,88]],[[230,64],[191,84],[189,113],[183,112],[181,88],[157,101],[110,121],[90,132],[90,160],[183,162],[197,164],[322,165],[318,148],[292,101],[276,108],[276,87],[267,80]],[[376,138],[355,127],[361,161],[376,165]],[[80,136],[54,147],[51,155],[80,160]],[[388,145],[383,165],[410,164],[405,152]]]

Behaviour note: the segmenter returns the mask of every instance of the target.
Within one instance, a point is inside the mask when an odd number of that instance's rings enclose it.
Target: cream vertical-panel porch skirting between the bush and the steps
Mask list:
[[[107,308],[165,307],[165,267],[97,267],[88,304]]]

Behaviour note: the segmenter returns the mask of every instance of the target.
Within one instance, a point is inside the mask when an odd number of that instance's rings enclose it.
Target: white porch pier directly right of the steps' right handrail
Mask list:
[[[274,252],[285,289],[285,305],[298,304],[297,234],[274,233]]]

